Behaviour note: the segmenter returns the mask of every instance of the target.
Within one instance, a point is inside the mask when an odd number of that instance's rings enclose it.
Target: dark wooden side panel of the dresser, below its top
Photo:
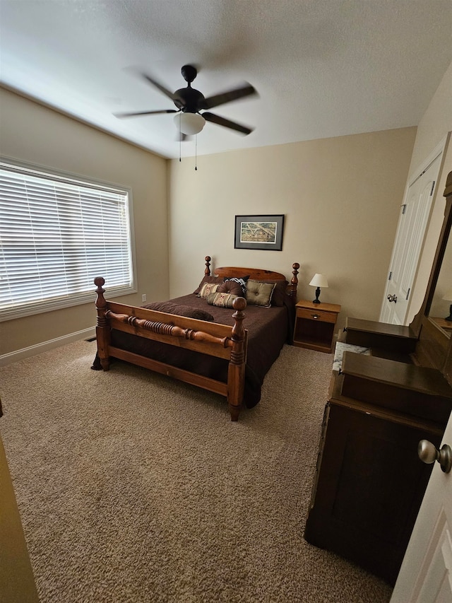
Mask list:
[[[304,537],[394,584],[432,472],[417,444],[441,438],[400,417],[328,406]]]

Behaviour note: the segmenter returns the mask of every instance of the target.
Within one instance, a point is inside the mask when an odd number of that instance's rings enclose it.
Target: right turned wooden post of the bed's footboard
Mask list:
[[[245,380],[245,329],[243,328],[246,300],[234,299],[234,327],[232,327],[232,349],[229,368],[227,371],[227,404],[231,421],[238,421],[242,409],[244,380]]]

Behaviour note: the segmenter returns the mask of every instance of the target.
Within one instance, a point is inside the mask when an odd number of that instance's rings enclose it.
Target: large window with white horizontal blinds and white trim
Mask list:
[[[131,191],[0,160],[0,320],[136,291]]]

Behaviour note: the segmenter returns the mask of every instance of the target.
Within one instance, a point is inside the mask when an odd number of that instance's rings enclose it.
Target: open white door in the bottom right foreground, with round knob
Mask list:
[[[452,414],[442,444],[452,447]],[[390,603],[452,602],[452,472],[435,462]]]

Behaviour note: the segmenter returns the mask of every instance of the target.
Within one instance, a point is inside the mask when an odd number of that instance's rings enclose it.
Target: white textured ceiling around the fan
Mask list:
[[[203,155],[417,125],[452,61],[451,0],[0,0],[0,24],[5,86],[171,158],[172,115],[113,115],[174,108],[140,72],[258,90],[212,110],[254,131],[208,123]]]

